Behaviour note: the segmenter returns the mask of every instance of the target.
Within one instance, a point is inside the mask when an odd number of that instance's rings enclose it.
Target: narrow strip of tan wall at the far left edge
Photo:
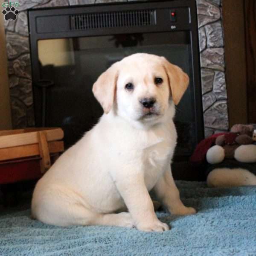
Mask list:
[[[11,128],[12,119],[7,74],[6,41],[3,27],[3,15],[0,15],[0,130]]]

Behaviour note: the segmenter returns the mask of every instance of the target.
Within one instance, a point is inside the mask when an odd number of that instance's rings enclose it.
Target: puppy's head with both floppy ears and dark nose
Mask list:
[[[137,53],[113,64],[93,84],[105,113],[138,122],[156,123],[180,102],[189,77],[164,57]],[[114,104],[116,103],[116,104]],[[114,106],[114,107],[113,107]]]

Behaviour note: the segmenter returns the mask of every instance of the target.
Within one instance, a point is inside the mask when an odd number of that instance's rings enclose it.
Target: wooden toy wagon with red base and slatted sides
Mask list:
[[[0,184],[40,178],[64,151],[61,128],[0,131]]]

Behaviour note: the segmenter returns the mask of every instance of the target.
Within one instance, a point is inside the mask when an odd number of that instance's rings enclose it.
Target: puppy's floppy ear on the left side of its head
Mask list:
[[[93,84],[93,94],[106,114],[109,113],[114,102],[117,78],[118,62],[102,73]]]

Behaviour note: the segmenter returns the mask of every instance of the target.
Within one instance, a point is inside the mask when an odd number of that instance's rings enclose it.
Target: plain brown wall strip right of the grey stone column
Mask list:
[[[236,4],[234,4],[236,2]],[[244,0],[222,1],[224,28],[227,106],[230,128],[247,124],[246,55]]]

